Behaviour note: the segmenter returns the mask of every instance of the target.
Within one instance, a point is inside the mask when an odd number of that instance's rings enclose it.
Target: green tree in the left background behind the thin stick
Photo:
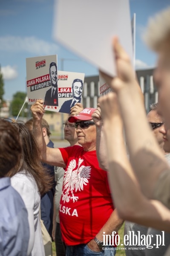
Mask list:
[[[20,112],[20,109],[23,106],[25,98],[26,98],[26,93],[23,93],[23,92],[17,92],[13,95],[13,99],[11,102],[12,116],[18,115],[18,113]],[[20,116],[22,117],[26,116],[26,112],[24,111],[26,108],[27,108],[27,103],[23,106]]]

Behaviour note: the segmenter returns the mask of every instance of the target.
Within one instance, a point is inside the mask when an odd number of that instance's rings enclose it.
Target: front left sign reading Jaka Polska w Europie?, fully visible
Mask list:
[[[28,104],[44,99],[58,106],[57,55],[26,58]]]

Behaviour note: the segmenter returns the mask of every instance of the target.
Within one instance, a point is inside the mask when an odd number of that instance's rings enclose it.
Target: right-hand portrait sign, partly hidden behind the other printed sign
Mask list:
[[[58,106],[45,105],[45,110],[70,113],[77,102],[81,102],[84,73],[58,70]]]

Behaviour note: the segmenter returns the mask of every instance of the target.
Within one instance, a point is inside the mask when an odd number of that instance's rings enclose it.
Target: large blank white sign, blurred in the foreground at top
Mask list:
[[[112,38],[133,63],[129,0],[55,0],[54,39],[110,76],[116,75]]]

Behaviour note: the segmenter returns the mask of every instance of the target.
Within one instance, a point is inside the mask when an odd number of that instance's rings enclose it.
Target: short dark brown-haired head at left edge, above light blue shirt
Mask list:
[[[0,119],[0,177],[14,168],[21,151],[17,129],[10,122]]]

